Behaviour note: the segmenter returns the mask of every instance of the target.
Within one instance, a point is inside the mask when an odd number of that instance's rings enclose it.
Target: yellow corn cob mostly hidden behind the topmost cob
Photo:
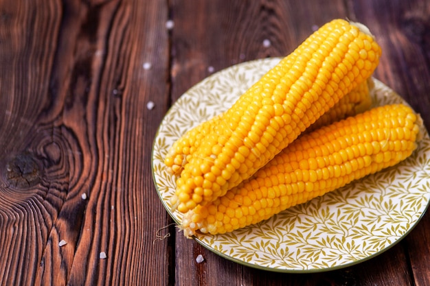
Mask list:
[[[321,126],[339,121],[348,116],[356,115],[370,108],[372,98],[370,90],[373,88],[373,80],[369,78],[354,88],[350,93],[342,97],[335,106],[330,108],[324,115],[319,117],[315,123],[309,126],[305,132],[315,130]],[[218,124],[222,115],[217,115],[210,120],[204,121],[199,126],[186,132],[180,139],[174,142],[164,163],[170,174],[180,175],[185,163],[190,162],[192,154],[199,147],[201,141]]]

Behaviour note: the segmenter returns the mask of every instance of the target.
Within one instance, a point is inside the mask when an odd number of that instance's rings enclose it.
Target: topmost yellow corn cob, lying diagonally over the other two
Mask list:
[[[251,86],[205,136],[177,179],[172,208],[185,213],[252,176],[369,78],[380,54],[362,25],[335,20],[322,26]]]

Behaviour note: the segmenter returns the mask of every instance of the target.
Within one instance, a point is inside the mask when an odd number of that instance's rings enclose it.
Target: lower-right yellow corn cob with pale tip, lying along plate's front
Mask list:
[[[205,206],[185,213],[187,237],[256,224],[407,158],[422,120],[411,108],[373,108],[324,126],[291,143],[254,176]]]

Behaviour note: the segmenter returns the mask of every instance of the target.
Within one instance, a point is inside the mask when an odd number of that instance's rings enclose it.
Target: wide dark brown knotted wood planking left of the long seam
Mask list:
[[[166,3],[0,8],[0,284],[167,285],[150,171],[168,107]]]

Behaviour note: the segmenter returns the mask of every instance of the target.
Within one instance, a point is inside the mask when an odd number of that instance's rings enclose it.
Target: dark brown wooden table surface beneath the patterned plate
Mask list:
[[[427,0],[1,0],[0,285],[430,285],[429,213],[358,265],[274,273],[185,239],[150,167],[188,88],[334,18],[370,27],[374,76],[430,129],[429,15]]]

